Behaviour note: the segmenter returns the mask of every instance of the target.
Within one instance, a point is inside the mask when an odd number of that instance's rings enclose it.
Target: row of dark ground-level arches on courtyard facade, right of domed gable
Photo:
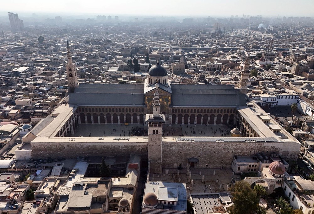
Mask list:
[[[203,121],[202,121],[202,117],[203,117]],[[216,117],[216,123],[215,123],[215,117]],[[228,117],[229,117],[229,121],[228,121]],[[171,123],[176,124],[176,121],[177,121],[177,124],[225,124],[227,125],[228,123],[232,123],[234,121],[234,115],[233,114],[231,115],[219,114],[215,116],[214,114],[211,114],[208,116],[208,114],[205,114],[205,115],[198,114],[197,116],[195,116],[195,114],[192,114],[192,115],[173,114],[171,118]]]

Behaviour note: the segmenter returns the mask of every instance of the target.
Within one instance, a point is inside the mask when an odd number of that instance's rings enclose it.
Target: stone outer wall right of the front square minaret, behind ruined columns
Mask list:
[[[186,168],[188,158],[198,158],[196,168],[230,168],[234,155],[255,155],[265,152],[278,153],[286,161],[296,160],[300,143],[256,143],[256,142],[163,142],[162,167],[176,168],[181,164]],[[208,164],[208,167],[206,167]]]

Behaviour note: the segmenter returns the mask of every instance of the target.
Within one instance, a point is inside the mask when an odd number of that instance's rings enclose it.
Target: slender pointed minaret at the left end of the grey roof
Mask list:
[[[68,49],[68,64],[66,65],[66,68],[67,68],[67,76],[68,76],[68,86],[69,86],[69,92],[73,93],[74,89],[78,87],[78,76],[76,72],[76,66],[72,62],[72,56],[71,56],[68,37],[67,37],[67,49]]]

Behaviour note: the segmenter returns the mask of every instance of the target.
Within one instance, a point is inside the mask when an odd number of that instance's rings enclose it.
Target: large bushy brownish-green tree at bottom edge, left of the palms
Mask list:
[[[259,197],[251,189],[246,181],[238,181],[231,187],[233,205],[230,207],[231,214],[252,214],[257,211]]]

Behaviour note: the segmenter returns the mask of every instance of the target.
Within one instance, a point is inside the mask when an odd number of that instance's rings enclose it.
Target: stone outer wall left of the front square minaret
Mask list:
[[[51,158],[77,158],[87,156],[129,156],[141,155],[147,158],[147,143],[31,143],[32,157],[34,159]]]

